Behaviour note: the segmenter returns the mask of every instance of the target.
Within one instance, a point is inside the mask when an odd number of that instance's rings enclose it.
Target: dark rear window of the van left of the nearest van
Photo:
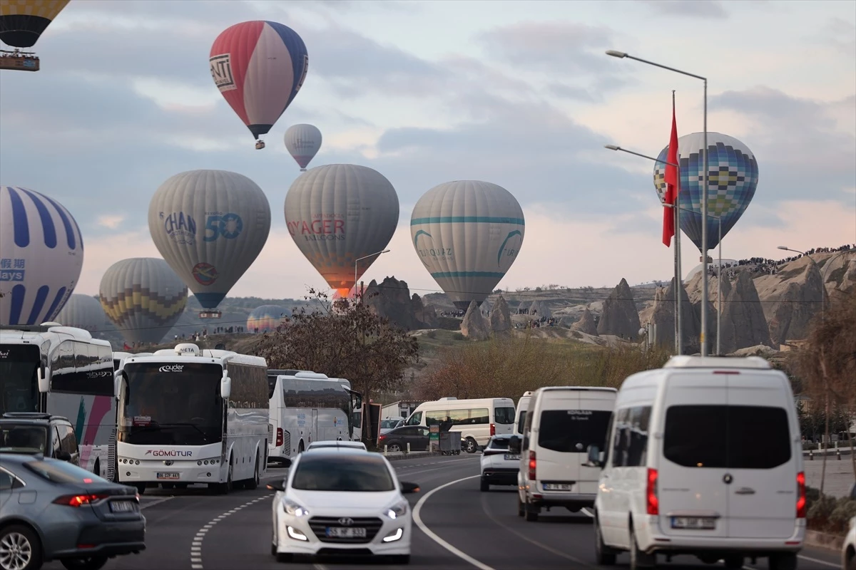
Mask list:
[[[587,453],[589,445],[603,450],[611,415],[591,409],[544,410],[538,426],[538,445],[563,453]]]

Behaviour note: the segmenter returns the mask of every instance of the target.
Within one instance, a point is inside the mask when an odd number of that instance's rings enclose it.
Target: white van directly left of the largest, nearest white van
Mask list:
[[[523,438],[514,436],[508,444],[520,453],[517,514],[538,520],[542,508],[575,513],[594,504],[600,472],[587,465],[587,450],[606,441],[616,392],[552,386],[532,393]]]

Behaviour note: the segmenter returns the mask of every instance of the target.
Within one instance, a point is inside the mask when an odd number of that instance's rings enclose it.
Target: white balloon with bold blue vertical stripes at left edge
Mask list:
[[[37,191],[0,185],[0,324],[53,320],[82,266],[83,238],[67,209]]]

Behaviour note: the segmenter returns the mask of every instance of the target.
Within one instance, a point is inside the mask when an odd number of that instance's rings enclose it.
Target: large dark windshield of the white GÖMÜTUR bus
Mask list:
[[[205,445],[223,438],[223,367],[130,363],[119,391],[119,437],[126,444]]]

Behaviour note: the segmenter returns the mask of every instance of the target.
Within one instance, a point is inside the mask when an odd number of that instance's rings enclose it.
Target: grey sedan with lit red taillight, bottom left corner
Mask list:
[[[37,570],[59,560],[98,570],[116,555],[146,549],[146,519],[134,487],[116,485],[68,461],[3,454],[0,568]]]

